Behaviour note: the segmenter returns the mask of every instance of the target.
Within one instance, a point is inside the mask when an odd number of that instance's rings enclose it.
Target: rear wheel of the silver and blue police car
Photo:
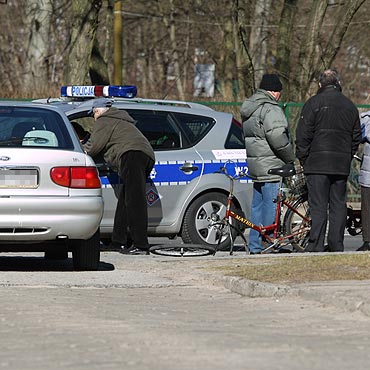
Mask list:
[[[203,244],[218,250],[230,248],[230,237],[220,233],[219,225],[226,213],[227,196],[222,193],[207,193],[197,198],[187,209],[182,225],[184,243]],[[236,213],[238,210],[233,211]],[[233,226],[237,222],[233,220]],[[236,231],[233,229],[233,236]]]

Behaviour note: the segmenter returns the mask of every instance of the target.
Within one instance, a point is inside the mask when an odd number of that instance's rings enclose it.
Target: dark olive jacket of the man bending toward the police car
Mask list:
[[[104,160],[118,172],[121,156],[129,150],[145,153],[155,160],[152,146],[134,119],[124,110],[110,108],[94,123],[89,142],[84,146],[87,154],[103,154]]]

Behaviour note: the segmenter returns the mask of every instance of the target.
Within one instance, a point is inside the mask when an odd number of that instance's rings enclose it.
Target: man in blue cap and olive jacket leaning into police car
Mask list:
[[[95,123],[84,148],[92,157],[103,154],[122,178],[110,247],[122,254],[149,254],[146,180],[154,166],[152,146],[124,110],[112,107],[108,98],[93,101]]]

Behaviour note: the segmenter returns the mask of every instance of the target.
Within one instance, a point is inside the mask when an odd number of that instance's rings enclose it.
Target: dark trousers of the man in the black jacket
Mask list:
[[[311,231],[306,250],[323,252],[329,214],[328,247],[332,252],[344,250],[344,228],[347,219],[347,176],[307,175]]]

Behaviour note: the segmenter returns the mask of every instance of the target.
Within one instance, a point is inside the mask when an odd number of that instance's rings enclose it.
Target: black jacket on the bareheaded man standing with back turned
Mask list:
[[[360,142],[359,112],[339,86],[307,100],[296,131],[296,156],[306,174],[348,176]]]

